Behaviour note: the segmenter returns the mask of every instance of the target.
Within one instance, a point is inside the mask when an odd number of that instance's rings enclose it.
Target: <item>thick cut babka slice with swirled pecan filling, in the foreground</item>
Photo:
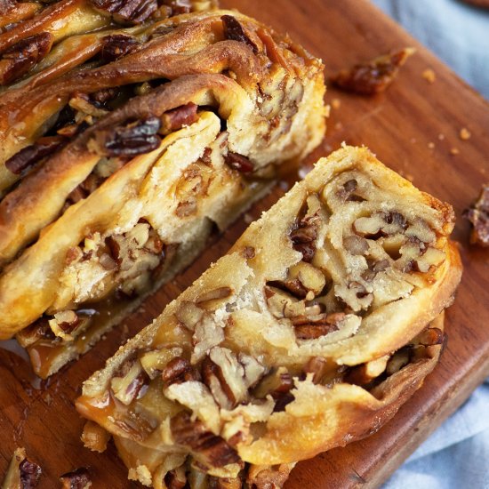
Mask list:
[[[156,488],[265,488],[373,433],[437,363],[452,229],[368,149],[320,160],[84,382],[86,445]]]

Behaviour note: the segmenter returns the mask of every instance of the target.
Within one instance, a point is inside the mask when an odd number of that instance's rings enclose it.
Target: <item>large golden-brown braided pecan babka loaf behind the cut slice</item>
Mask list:
[[[67,5],[85,5],[73,11],[84,19],[93,4],[104,3],[51,4],[0,37],[23,24],[34,36],[52,12],[69,20]],[[60,34],[0,94],[0,338],[16,334],[41,377],[188,265],[214,224],[226,228],[278,164],[323,138],[320,60],[239,12],[169,4],[164,20]],[[90,49],[78,58],[82,38]]]

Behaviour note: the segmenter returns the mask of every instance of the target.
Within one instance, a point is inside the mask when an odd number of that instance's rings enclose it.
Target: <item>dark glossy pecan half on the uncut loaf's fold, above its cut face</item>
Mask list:
[[[158,148],[161,138],[158,117],[148,116],[136,123],[116,127],[113,131],[98,134],[92,148],[100,156],[138,156]]]

